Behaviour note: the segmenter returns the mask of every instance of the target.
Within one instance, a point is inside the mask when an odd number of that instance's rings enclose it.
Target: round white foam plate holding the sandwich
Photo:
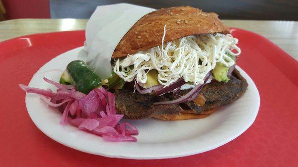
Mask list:
[[[43,77],[59,81],[67,64],[74,60],[80,48],[53,58],[33,76],[29,86],[51,88]],[[138,142],[106,142],[101,137],[81,131],[71,125],[60,125],[61,113],[26,94],[26,106],[36,126],[53,140],[76,150],[106,157],[127,159],[163,159],[193,155],[215,149],[243,133],[255,120],[260,106],[258,90],[251,78],[236,67],[248,82],[246,93],[237,101],[220,108],[204,119],[162,121],[154,118],[127,120],[140,134]]]

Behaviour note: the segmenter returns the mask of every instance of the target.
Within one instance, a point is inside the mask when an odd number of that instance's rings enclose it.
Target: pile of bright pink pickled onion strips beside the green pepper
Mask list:
[[[101,87],[85,95],[76,91],[73,86],[44,79],[58,88],[57,93],[23,84],[19,86],[27,93],[40,95],[49,106],[58,107],[63,113],[61,124],[72,123],[79,129],[102,136],[108,141],[137,141],[132,135],[138,135],[138,129],[127,122],[120,124],[123,114],[116,113],[114,94]]]

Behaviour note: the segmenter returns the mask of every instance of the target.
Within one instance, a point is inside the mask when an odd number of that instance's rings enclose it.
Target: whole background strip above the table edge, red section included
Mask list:
[[[89,18],[97,5],[127,2],[165,8],[191,5],[221,19],[298,20],[298,0],[2,0],[6,19]]]

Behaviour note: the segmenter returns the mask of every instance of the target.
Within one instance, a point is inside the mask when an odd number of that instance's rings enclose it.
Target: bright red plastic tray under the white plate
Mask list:
[[[254,80],[261,105],[252,126],[215,150],[163,160],[91,155],[44,135],[31,121],[25,92],[53,57],[82,46],[84,31],[35,34],[0,43],[1,167],[298,167],[298,61],[266,38],[231,29],[242,50],[237,64]]]

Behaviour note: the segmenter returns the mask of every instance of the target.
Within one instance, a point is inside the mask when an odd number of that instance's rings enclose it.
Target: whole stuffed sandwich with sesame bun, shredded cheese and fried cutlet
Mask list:
[[[128,119],[204,118],[238,99],[248,86],[235,67],[238,40],[216,13],[190,6],[142,17],[112,56],[125,82],[116,110]]]

